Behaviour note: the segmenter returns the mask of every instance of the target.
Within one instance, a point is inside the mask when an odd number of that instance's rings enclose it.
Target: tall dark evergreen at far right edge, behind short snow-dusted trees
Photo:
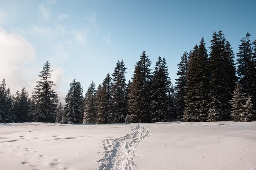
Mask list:
[[[237,64],[238,64],[238,77],[239,82],[243,88],[246,95],[252,95],[252,103],[256,107],[256,72],[255,72],[255,42],[254,51],[252,48],[252,43],[250,40],[250,34],[247,33],[245,37],[242,38],[241,44],[239,45],[239,52],[237,53]]]

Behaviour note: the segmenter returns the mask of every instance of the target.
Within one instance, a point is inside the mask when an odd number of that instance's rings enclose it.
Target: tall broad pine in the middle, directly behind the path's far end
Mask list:
[[[132,122],[150,122],[151,62],[143,51],[135,65],[128,93],[128,108]]]

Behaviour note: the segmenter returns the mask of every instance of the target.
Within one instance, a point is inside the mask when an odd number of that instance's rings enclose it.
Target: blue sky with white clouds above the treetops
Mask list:
[[[132,77],[146,51],[154,68],[166,58],[172,82],[184,51],[222,30],[238,52],[249,32],[256,39],[255,0],[0,0],[0,78],[11,92],[31,91],[46,60],[60,97],[74,78],[84,93],[124,59]]]

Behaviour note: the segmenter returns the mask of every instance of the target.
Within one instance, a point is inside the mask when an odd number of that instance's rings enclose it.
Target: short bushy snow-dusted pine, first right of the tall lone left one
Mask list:
[[[70,83],[70,89],[65,97],[63,123],[81,124],[83,122],[83,88],[76,79]]]

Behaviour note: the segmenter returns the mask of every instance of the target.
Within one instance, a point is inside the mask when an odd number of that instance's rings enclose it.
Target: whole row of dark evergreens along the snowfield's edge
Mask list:
[[[124,60],[116,63],[99,86],[92,81],[83,88],[74,79],[65,97],[58,102],[52,88],[47,61],[40,80],[29,97],[22,88],[11,95],[5,79],[0,84],[0,122],[55,122],[62,124],[110,124],[130,122],[253,121],[256,106],[256,40],[242,38],[237,62],[222,31],[214,31],[209,53],[202,38],[178,64],[175,86],[168,76],[164,57],[159,56],[152,71],[143,51],[132,79],[126,83]],[[237,69],[236,69],[237,66]]]

